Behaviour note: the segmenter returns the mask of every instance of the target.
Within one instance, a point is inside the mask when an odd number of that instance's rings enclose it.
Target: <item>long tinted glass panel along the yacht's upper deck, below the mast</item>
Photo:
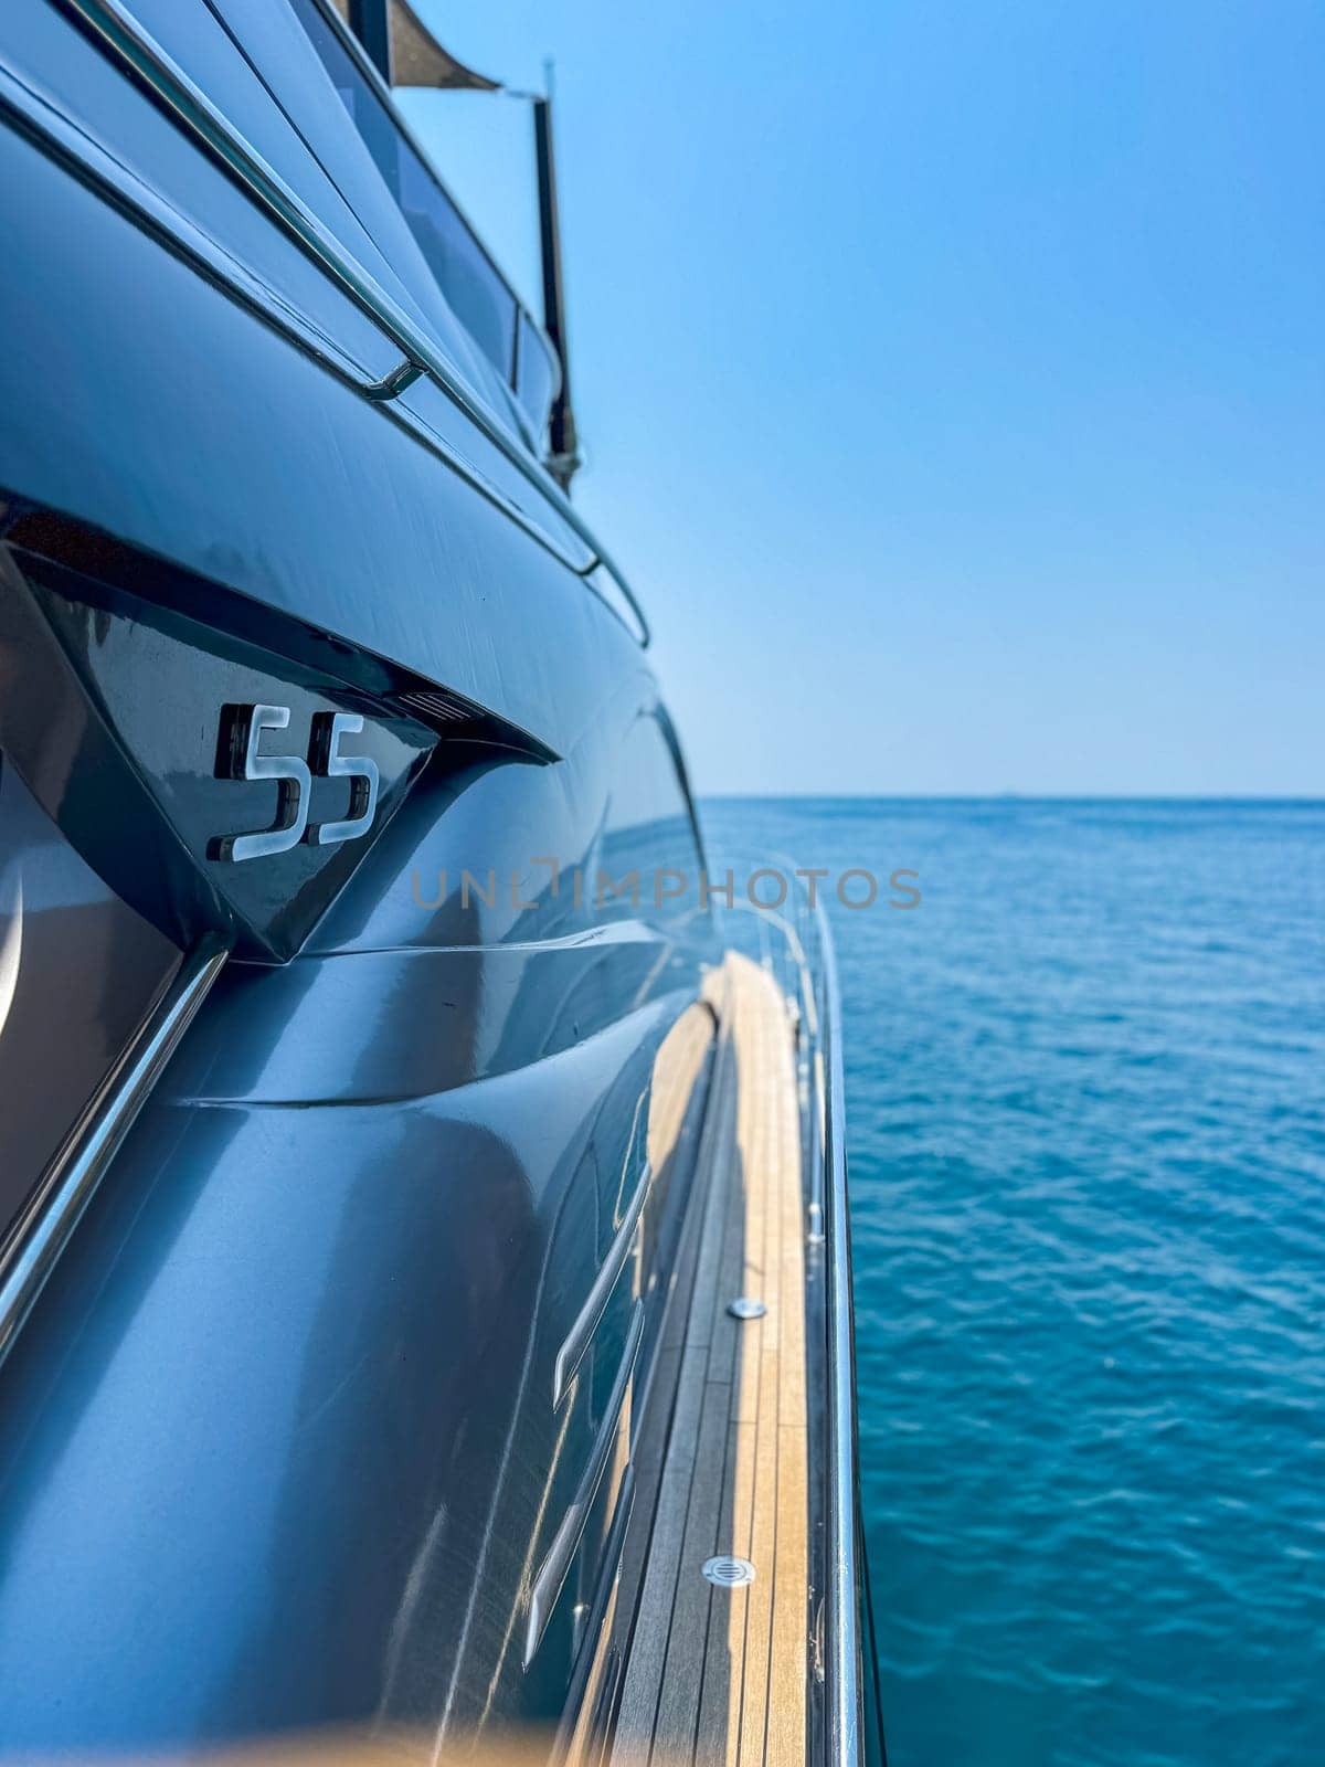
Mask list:
[[[452,313],[509,382],[516,350],[516,297],[452,200],[399,133],[396,118],[316,0],[293,0],[293,5]]]

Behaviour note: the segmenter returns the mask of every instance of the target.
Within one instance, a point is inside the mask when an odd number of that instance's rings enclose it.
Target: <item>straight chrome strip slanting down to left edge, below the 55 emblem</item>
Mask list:
[[[0,1361],[228,956],[230,947],[214,938],[201,940],[184,956],[173,982],[28,1198],[0,1267]]]

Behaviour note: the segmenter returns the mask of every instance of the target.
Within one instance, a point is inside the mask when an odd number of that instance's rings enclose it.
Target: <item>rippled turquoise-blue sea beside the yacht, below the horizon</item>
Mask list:
[[[832,905],[890,1767],[1325,1763],[1325,806],[703,818],[919,871]]]

